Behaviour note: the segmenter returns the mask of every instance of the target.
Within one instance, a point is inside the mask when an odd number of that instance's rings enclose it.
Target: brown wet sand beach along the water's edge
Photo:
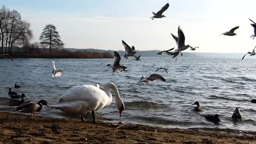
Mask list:
[[[254,134],[0,113],[0,143],[256,143]]]

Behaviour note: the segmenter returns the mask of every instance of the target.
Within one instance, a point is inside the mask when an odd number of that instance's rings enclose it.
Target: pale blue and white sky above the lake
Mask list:
[[[198,52],[247,52],[256,46],[251,39],[256,21],[256,1],[180,0],[180,1],[67,1],[9,0],[9,9],[18,10],[31,23],[32,42],[47,23],[57,27],[66,47],[124,50],[121,39],[138,50],[164,50],[177,47],[171,33],[181,26],[186,44],[199,46]],[[166,18],[150,20],[169,3]],[[235,26],[237,36],[220,36]],[[189,51],[189,50],[187,50]]]

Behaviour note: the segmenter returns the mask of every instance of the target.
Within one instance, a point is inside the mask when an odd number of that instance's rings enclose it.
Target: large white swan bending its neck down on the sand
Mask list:
[[[59,99],[59,104],[51,106],[52,108],[65,111],[69,114],[81,115],[82,121],[85,114],[92,111],[93,122],[96,123],[94,111],[100,110],[110,105],[112,95],[110,89],[115,94],[116,106],[122,116],[124,110],[124,102],[120,98],[118,89],[115,84],[107,83],[103,89],[99,89],[99,85],[78,85],[68,89]]]

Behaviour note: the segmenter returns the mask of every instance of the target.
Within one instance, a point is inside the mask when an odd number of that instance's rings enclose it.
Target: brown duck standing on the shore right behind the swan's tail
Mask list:
[[[35,112],[39,112],[42,110],[43,105],[49,107],[48,102],[46,100],[39,100],[37,103],[28,101],[18,106],[16,108],[16,111],[21,110],[23,113],[31,113],[31,116],[33,116]]]

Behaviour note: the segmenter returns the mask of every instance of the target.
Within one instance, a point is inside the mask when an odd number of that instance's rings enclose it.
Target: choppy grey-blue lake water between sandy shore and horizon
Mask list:
[[[182,58],[173,61],[171,58],[144,57],[141,61],[133,61],[129,58],[121,60],[129,71],[114,75],[106,66],[114,59],[54,61],[64,74],[52,79],[52,59],[0,59],[0,110],[15,110],[9,106],[7,95],[8,87],[13,87],[14,83],[21,88],[13,91],[25,93],[26,100],[37,102],[45,99],[51,105],[57,103],[61,94],[70,87],[96,83],[102,87],[113,82],[124,101],[125,111],[123,117],[119,117],[113,101],[109,107],[95,113],[109,121],[186,129],[256,131],[256,105],[250,102],[256,98],[254,60]],[[157,71],[166,78],[165,83],[137,83],[142,75],[149,76],[158,67],[169,69],[169,74]],[[205,111],[193,111],[195,101],[199,101]],[[240,107],[242,121],[231,120],[235,107]],[[220,124],[206,121],[204,116],[207,114],[219,114]],[[76,118],[45,107],[39,115]]]

